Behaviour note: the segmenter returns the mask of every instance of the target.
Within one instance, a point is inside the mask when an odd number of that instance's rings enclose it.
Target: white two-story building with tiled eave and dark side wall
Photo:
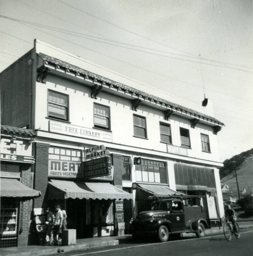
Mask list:
[[[224,124],[211,100],[196,106],[159,95],[39,40],[0,79],[2,123],[36,133],[34,207],[60,203],[77,238],[127,233],[149,195],[200,195],[195,203],[211,221],[223,215],[217,132]],[[104,171],[96,169],[103,158]]]

